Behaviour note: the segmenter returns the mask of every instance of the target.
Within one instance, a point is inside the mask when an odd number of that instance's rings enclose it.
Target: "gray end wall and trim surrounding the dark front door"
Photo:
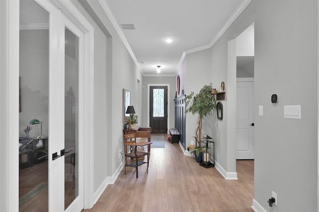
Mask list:
[[[148,85],[149,84],[169,84],[169,127],[175,127],[175,107],[174,107],[174,98],[175,98],[175,76],[173,77],[143,77],[143,86],[142,89],[142,108],[143,108],[143,122],[141,126],[147,127],[148,118]],[[141,119],[142,120],[142,119]]]

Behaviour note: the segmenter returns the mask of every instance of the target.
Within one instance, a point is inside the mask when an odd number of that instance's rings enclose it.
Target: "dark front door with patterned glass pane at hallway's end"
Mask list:
[[[167,86],[150,86],[150,126],[154,134],[167,133]]]

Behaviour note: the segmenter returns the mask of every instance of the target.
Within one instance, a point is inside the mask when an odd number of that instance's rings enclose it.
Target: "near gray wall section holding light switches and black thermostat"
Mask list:
[[[255,199],[272,212],[318,210],[317,3],[254,4]],[[279,96],[277,105],[272,94]],[[264,116],[258,116],[260,105]],[[302,119],[284,119],[285,105],[301,105]],[[279,200],[272,210],[266,202],[271,191]]]

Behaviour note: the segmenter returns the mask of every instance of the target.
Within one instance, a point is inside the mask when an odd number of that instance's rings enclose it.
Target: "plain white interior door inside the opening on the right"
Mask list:
[[[237,78],[236,159],[254,159],[254,82]]]

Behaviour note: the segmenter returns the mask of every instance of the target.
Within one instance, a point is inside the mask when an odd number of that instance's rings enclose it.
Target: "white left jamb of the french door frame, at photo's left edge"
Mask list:
[[[3,211],[17,212],[19,210],[19,152],[18,142],[10,141],[18,141],[19,134],[19,63],[16,62],[19,61],[19,15],[16,15],[19,14],[19,1],[5,0],[0,4],[1,18],[5,18],[3,28],[6,29],[3,34],[0,32],[1,37],[5,38],[3,43],[0,41],[1,47],[4,47],[0,49],[0,205]],[[5,13],[3,14],[2,11]],[[5,58],[5,61],[2,58]]]

